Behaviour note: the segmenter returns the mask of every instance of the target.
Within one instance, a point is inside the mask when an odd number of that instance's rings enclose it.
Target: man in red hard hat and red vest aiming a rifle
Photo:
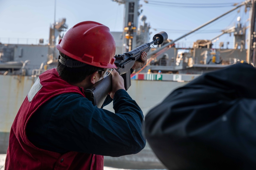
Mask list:
[[[13,122],[5,169],[103,169],[103,155],[141,151],[146,143],[143,113],[114,69],[115,42],[109,28],[80,22],[57,49],[57,69],[38,77]],[[132,69],[144,66],[147,53],[141,51],[139,58]],[[84,94],[110,72],[108,94],[115,113],[94,106]]]

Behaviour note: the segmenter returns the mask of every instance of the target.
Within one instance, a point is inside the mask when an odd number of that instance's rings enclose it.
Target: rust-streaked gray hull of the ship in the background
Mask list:
[[[149,76],[146,76],[148,79]],[[153,75],[151,77],[154,77]],[[156,77],[156,76],[155,76]],[[173,76],[172,76],[173,77]],[[164,78],[164,76],[163,76]],[[5,154],[8,147],[9,132],[14,118],[27,96],[31,86],[36,81],[34,76],[0,75],[0,154]],[[183,86],[186,82],[131,80],[132,86],[128,93],[137,101],[144,115],[161,102],[171,91]],[[113,111],[112,103],[104,109]],[[104,157],[104,165],[126,169],[163,169],[162,163],[156,158],[150,147],[146,147],[134,155],[120,157]]]

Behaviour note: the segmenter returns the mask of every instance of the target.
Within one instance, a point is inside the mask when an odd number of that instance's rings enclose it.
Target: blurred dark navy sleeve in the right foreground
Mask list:
[[[169,169],[256,169],[256,69],[234,64],[174,90],[145,117]]]

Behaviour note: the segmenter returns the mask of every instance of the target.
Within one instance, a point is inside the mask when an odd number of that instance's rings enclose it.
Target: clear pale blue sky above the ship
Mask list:
[[[178,2],[178,3],[236,3],[234,0],[148,0],[146,4],[140,0],[143,12],[141,15],[147,17],[153,32],[151,35],[160,31],[166,31],[168,37],[172,40],[193,30],[199,25],[215,18],[233,7],[221,8],[180,8],[172,6],[150,5],[151,2]],[[0,0],[0,42],[19,43],[25,41],[34,44],[39,38],[47,40],[49,38],[49,27],[54,22],[54,0]],[[241,3],[238,1],[237,3]],[[248,25],[246,22],[249,12],[244,13],[244,7],[240,8],[240,12],[235,10],[227,16],[213,22],[212,24],[202,28],[179,42],[192,45],[198,39],[211,39],[221,33],[221,30],[234,25],[236,18],[241,17],[242,24]],[[56,21],[60,18],[66,18],[68,28],[81,21],[92,20],[100,22],[110,28],[111,31],[123,31],[123,12],[124,5],[119,5],[111,0],[57,0]],[[154,30],[156,29],[156,31]],[[200,32],[204,32],[199,34]],[[8,39],[9,38],[9,39]],[[37,40],[37,41],[36,41]],[[225,34],[216,42],[214,48],[218,47],[220,41],[233,42],[233,37]],[[231,47],[231,46],[229,46]]]

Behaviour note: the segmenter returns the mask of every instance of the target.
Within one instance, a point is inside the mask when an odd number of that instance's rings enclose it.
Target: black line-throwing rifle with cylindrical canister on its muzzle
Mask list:
[[[119,73],[119,75],[123,77],[125,90],[128,90],[128,88],[131,86],[130,69],[132,68],[135,61],[140,60],[141,53],[143,51],[148,52],[151,48],[151,45],[162,44],[167,40],[167,38],[167,33],[162,31],[154,35],[152,42],[143,44],[127,53],[115,55],[116,60],[114,63],[117,67],[115,70]],[[97,105],[98,108],[101,108],[108,93],[111,91],[111,82],[112,75],[110,74],[109,76],[105,76],[101,81],[84,90],[86,98],[92,101],[94,106]]]

